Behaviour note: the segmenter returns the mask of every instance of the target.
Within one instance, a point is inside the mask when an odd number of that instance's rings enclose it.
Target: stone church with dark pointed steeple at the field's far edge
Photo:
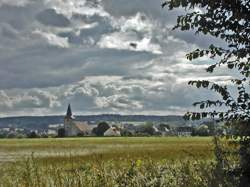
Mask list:
[[[67,114],[64,117],[65,136],[90,135],[92,127],[87,122],[76,121],[69,104]]]

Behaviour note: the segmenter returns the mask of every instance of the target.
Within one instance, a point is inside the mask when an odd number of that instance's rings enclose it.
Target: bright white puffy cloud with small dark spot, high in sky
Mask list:
[[[146,15],[137,13],[129,18],[121,17],[112,24],[116,31],[102,36],[97,43],[101,48],[162,54],[160,44],[153,42],[156,23]]]

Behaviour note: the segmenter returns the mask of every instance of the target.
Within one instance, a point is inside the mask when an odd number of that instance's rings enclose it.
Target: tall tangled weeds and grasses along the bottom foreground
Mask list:
[[[60,164],[41,162],[31,156],[0,168],[0,186],[86,187],[205,187],[237,184],[234,178],[214,175],[214,161],[181,160],[156,162],[150,158],[94,162],[68,157]]]

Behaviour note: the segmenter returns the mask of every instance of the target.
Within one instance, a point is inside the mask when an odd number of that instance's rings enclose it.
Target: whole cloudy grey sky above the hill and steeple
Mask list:
[[[201,10],[198,10],[201,11]],[[0,0],[0,116],[172,115],[215,98],[189,80],[207,57],[185,54],[221,41],[172,31],[177,15],[159,0]]]

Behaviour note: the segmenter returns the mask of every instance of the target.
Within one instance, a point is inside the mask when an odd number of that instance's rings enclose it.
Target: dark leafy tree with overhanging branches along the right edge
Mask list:
[[[196,49],[187,54],[189,60],[209,56],[216,59],[207,68],[208,73],[226,66],[228,71],[236,71],[231,79],[230,88],[208,80],[190,81],[190,85],[206,88],[219,94],[218,100],[204,100],[194,103],[202,112],[188,112],[187,119],[212,117],[226,121],[228,124],[240,126],[240,186],[250,181],[250,1],[249,0],[168,0],[162,7],[169,10],[185,8],[187,13],[178,16],[174,29],[182,31],[194,30],[196,34],[210,35],[224,40],[227,47],[211,44],[207,49]],[[196,8],[201,11],[196,11]],[[214,111],[205,110],[215,108]]]

